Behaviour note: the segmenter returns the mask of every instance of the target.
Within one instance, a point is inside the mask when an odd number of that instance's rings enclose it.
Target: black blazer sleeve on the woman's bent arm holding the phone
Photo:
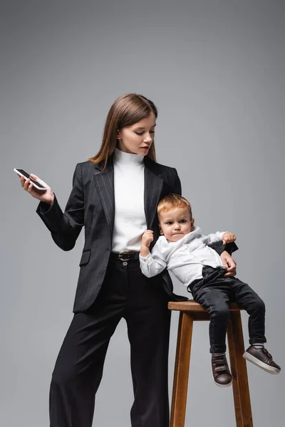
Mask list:
[[[36,213],[51,231],[51,237],[63,251],[70,251],[84,225],[84,191],[81,164],[76,165],[73,174],[73,188],[63,213],[56,196],[50,206],[44,202],[38,204]]]

